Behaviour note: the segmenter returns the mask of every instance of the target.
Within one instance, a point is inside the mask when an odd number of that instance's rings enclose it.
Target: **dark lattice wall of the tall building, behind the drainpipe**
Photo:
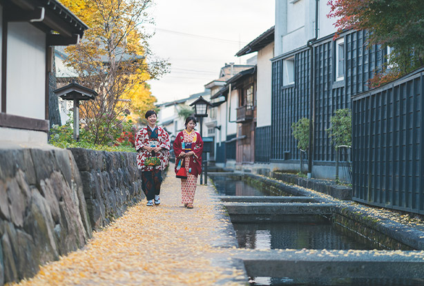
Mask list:
[[[345,78],[336,81],[335,48],[331,38],[322,39],[314,48],[314,162],[335,162],[336,152],[325,131],[330,117],[340,108],[351,107],[351,95],[367,90],[367,80],[383,64],[384,51],[378,46],[366,48],[366,32],[349,32],[345,37]],[[292,55],[287,55],[291,57]],[[309,49],[295,54],[295,82],[282,86],[284,59],[272,63],[271,160],[299,160],[297,142],[291,124],[309,118]],[[347,158],[342,158],[347,160]]]

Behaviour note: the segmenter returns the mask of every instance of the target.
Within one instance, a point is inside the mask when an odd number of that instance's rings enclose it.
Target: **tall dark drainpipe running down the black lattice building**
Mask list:
[[[314,115],[315,115],[315,72],[314,72],[314,41],[318,39],[318,2],[315,0],[315,37],[307,41],[311,54],[311,69],[309,70],[309,146],[308,146],[308,175],[312,177],[312,155],[314,154]]]

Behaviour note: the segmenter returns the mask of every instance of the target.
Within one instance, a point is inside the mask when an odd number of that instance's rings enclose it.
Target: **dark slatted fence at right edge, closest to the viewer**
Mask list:
[[[424,213],[424,68],[352,98],[354,200]]]

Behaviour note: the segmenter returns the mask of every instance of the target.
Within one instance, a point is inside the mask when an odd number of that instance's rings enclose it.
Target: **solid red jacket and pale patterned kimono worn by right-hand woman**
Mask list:
[[[182,158],[178,158],[178,155],[180,155],[182,151],[184,151],[184,153],[189,152],[189,150],[187,149],[182,149],[183,142],[184,145],[186,145],[186,143],[191,143],[191,151],[193,151],[195,155],[185,157],[184,168],[187,172],[187,179],[181,180],[181,197],[183,204],[193,204],[194,195],[196,191],[197,175],[202,172],[203,140],[200,137],[200,134],[195,132],[194,130],[191,131],[191,133],[188,133],[184,129],[183,131],[178,133],[173,146],[175,157],[177,157],[177,160],[175,162],[175,172],[177,172],[178,162],[182,160]]]

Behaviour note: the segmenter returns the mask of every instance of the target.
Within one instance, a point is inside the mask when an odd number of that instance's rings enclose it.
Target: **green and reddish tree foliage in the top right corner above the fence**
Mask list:
[[[338,33],[343,30],[367,30],[368,44],[389,46],[390,70],[370,81],[378,86],[424,66],[423,0],[329,0],[328,17],[336,18]]]

